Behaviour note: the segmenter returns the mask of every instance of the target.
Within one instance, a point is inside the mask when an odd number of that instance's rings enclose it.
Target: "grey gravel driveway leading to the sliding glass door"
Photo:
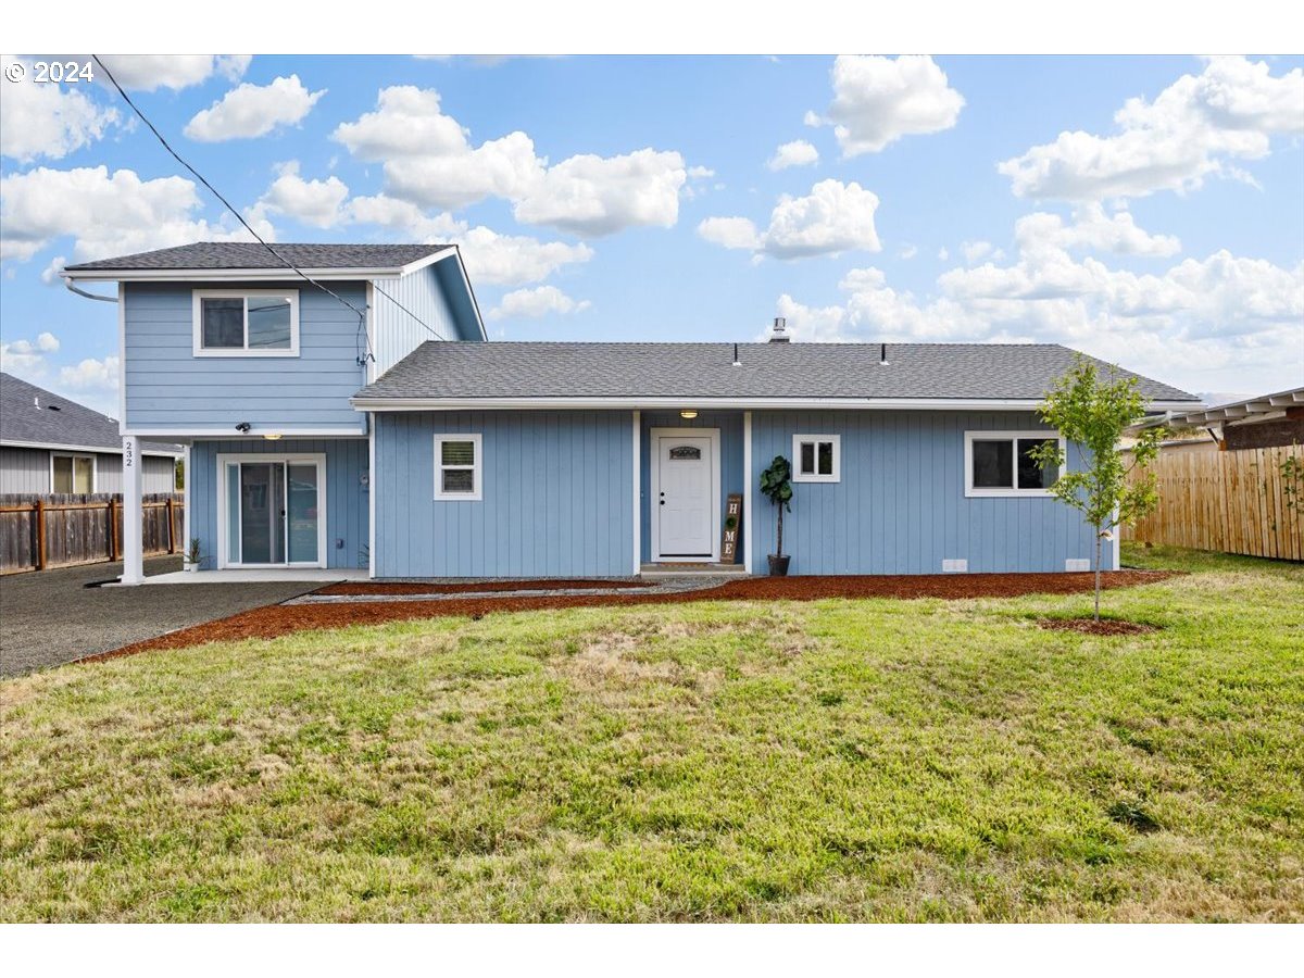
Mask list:
[[[181,570],[180,557],[145,562],[146,574],[171,570]],[[319,582],[85,587],[121,571],[121,563],[90,563],[0,578],[0,675],[63,665],[321,587]]]

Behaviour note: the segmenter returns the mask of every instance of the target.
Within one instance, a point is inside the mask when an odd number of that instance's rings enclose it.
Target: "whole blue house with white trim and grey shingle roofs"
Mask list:
[[[768,343],[488,343],[454,246],[275,248],[64,271],[117,283],[123,436],[186,446],[205,569],[627,576],[717,563],[734,528],[735,570],[764,574],[756,485],[776,455],[793,574],[1090,558],[1091,529],[1028,458],[1058,437],[1035,407],[1064,347],[789,343],[782,321]]]

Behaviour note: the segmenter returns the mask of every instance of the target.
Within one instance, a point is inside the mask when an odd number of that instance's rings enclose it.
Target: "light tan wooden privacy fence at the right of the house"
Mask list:
[[[1304,561],[1301,471],[1299,445],[1162,452],[1154,463],[1159,507],[1124,527],[1123,539]]]

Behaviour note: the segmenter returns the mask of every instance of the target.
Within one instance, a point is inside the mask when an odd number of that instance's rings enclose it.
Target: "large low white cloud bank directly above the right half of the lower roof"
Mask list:
[[[1074,226],[1031,233],[1050,216],[1020,222],[1016,261],[952,269],[932,297],[857,269],[841,282],[844,303],[807,306],[784,295],[778,314],[805,340],[1064,343],[1189,390],[1235,378],[1275,389],[1304,374],[1304,262],[1282,267],[1222,250],[1136,274],[1074,258],[1069,249],[1090,237]]]

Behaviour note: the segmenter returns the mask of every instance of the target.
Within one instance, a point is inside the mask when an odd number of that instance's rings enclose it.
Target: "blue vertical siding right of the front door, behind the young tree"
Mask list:
[[[784,514],[790,574],[938,574],[941,561],[969,572],[1063,571],[1093,554],[1093,531],[1051,498],[965,497],[965,432],[1046,430],[1021,412],[756,411],[748,486],[776,455],[792,460],[793,434],[841,436],[838,482],[794,482]],[[1081,452],[1068,446],[1069,468]],[[775,550],[775,507],[752,502],[754,574]],[[1112,566],[1104,546],[1102,567]]]

